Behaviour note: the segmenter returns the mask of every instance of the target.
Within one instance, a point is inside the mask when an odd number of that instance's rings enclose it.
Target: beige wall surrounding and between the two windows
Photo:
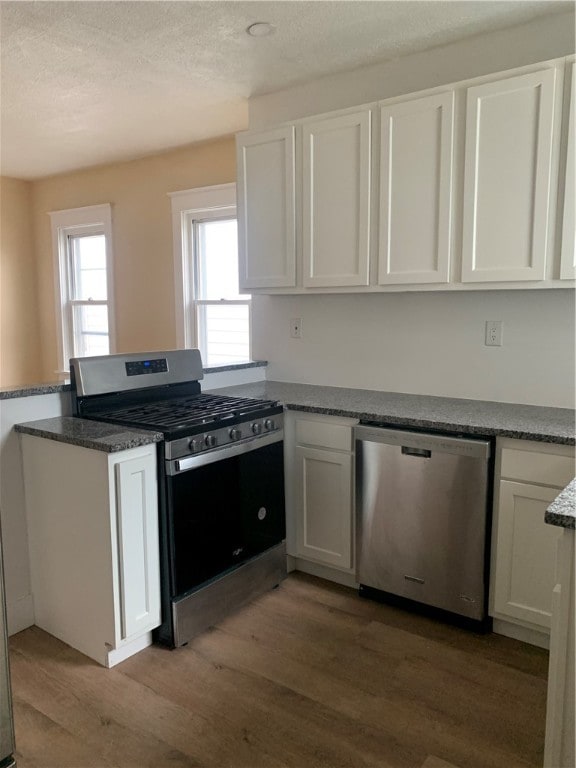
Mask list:
[[[112,204],[116,349],[176,346],[172,219],[168,192],[236,179],[232,137],[32,184],[42,376],[58,368],[49,211]]]

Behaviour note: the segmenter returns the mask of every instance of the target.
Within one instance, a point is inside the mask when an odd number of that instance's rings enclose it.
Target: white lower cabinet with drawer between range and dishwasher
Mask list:
[[[288,554],[349,574],[354,572],[355,423],[288,412],[285,429]]]

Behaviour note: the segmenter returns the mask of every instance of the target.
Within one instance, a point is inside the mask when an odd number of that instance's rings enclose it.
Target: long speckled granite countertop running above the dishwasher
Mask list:
[[[575,411],[484,400],[259,381],[215,393],[278,400],[287,408],[443,432],[574,445]]]

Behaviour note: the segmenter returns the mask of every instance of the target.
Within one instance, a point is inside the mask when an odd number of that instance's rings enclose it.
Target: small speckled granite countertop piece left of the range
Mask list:
[[[35,437],[45,437],[60,443],[79,445],[105,453],[126,451],[139,445],[158,443],[163,439],[161,432],[130,429],[117,424],[78,419],[74,416],[57,416],[52,419],[28,421],[14,426],[16,432]]]

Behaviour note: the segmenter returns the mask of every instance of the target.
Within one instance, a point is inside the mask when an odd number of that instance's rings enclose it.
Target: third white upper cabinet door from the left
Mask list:
[[[447,283],[454,93],[380,110],[378,285]]]

